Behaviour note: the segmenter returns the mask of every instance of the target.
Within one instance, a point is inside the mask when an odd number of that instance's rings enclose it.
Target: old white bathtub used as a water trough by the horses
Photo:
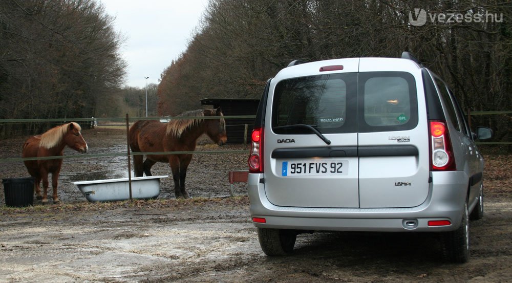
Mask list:
[[[169,176],[132,178],[132,199],[154,199],[160,194],[160,179]],[[128,178],[74,182],[90,202],[130,199]]]

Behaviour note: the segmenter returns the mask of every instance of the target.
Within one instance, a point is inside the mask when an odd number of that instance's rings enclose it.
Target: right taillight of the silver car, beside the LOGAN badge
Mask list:
[[[443,121],[430,121],[430,164],[433,171],[455,171],[452,144]]]

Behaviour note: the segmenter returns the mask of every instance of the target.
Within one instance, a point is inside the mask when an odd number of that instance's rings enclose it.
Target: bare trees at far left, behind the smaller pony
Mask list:
[[[0,3],[0,118],[94,116],[123,82],[123,37],[93,0]]]

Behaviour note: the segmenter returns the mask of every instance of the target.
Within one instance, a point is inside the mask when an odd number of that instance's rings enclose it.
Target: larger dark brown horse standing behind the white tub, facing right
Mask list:
[[[226,122],[223,118],[205,119],[208,116],[223,116],[221,108],[189,111],[178,117],[195,117],[195,119],[174,119],[167,123],[157,120],[141,120],[130,127],[130,148],[134,152],[194,151],[197,139],[206,134],[218,145],[227,141]],[[185,191],[185,177],[191,154],[176,155],[135,155],[134,171],[136,177],[151,176],[151,167],[157,162],[169,163],[173,173],[176,198],[188,198]]]

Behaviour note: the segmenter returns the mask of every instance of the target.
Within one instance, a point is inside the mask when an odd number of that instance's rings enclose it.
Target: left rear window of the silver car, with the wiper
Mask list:
[[[280,81],[274,92],[272,127],[307,124],[322,133],[355,132],[357,74],[331,74]],[[304,128],[278,134],[311,134]]]

